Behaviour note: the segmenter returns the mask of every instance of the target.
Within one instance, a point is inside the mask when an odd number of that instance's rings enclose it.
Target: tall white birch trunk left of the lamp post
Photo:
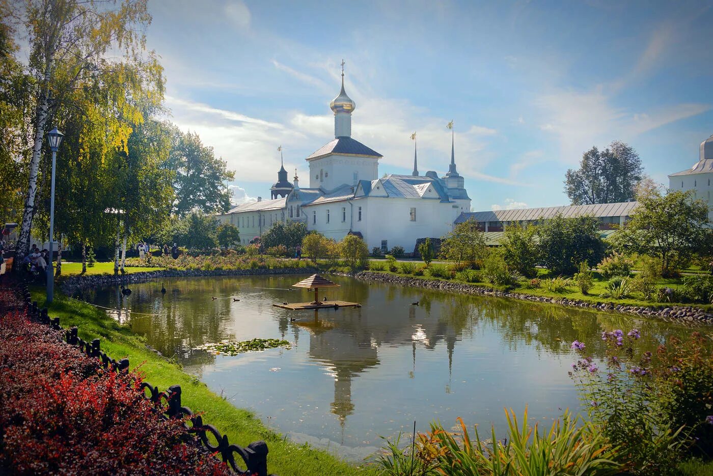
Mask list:
[[[30,251],[30,232],[32,229],[32,218],[35,214],[35,196],[37,195],[37,175],[39,172],[40,155],[42,152],[42,141],[44,140],[44,130],[49,112],[49,83],[52,71],[52,60],[49,59],[44,72],[44,84],[37,107],[37,118],[35,120],[35,143],[32,148],[32,159],[30,160],[29,184],[27,186],[27,197],[25,208],[22,212],[22,224],[20,234],[17,239],[16,255],[14,263],[22,262],[22,259]],[[16,268],[16,269],[19,269]]]

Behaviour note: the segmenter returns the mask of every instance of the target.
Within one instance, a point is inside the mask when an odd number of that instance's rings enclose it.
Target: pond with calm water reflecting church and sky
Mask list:
[[[164,279],[132,284],[128,298],[116,287],[81,298],[115,309],[107,312],[144,334],[148,345],[178,358],[185,371],[270,427],[351,460],[383,445],[379,436],[411,433],[414,420],[427,430],[434,420],[451,428],[462,417],[489,433],[491,423],[504,430],[503,408],[521,415],[528,405],[531,417],[548,423],[565,408],[580,408],[568,376],[576,360],[572,341],[602,356],[603,330],[638,328],[637,345],[652,350],[667,335],[689,333],[636,316],[339,276],[330,279],[342,287],[323,289],[320,297],[361,308],[272,306],[311,300],[306,289],[289,287],[303,277]],[[237,356],[197,349],[251,338],[284,338],[292,348]]]

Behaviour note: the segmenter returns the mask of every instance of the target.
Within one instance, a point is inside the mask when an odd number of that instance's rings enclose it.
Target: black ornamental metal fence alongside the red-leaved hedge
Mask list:
[[[59,318],[51,318],[46,308],[39,309],[37,303],[32,301],[28,288],[24,289],[24,300],[31,319],[47,324],[58,331],[62,330],[59,325]],[[111,368],[117,372],[128,372],[128,358],[116,361],[101,350],[98,338],[87,342],[78,337],[77,334],[78,329],[76,327],[66,331],[66,342],[71,346],[78,347],[86,356],[98,358],[103,368]],[[213,425],[204,424],[200,415],[194,415],[190,408],[181,405],[181,388],[178,385],[170,386],[168,390],[163,392],[148,382],[142,382],[139,388],[142,397],[153,403],[156,410],[160,412],[160,418],[188,417],[184,425],[188,433],[194,435],[194,438],[190,438],[190,440],[197,445],[202,445],[210,452],[220,453],[225,464],[229,465],[238,476],[267,476],[267,443],[265,441],[255,441],[247,445],[247,447],[231,444],[227,435],[221,435],[220,431]],[[211,436],[215,439],[215,443],[211,441]],[[241,465],[236,462],[236,453],[245,462],[245,469],[241,469]]]

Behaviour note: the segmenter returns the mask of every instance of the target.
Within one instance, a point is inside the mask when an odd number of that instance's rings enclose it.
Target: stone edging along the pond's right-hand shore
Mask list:
[[[374,271],[359,271],[350,276],[364,281],[380,281],[389,284],[399,284],[414,288],[441,289],[463,294],[481,294],[483,296],[497,296],[511,299],[521,299],[523,301],[535,301],[544,303],[560,304],[562,306],[580,307],[593,309],[596,311],[616,311],[626,314],[637,314],[640,316],[654,316],[666,321],[701,322],[713,324],[713,313],[692,306],[624,306],[611,302],[590,302],[580,299],[550,298],[547,296],[533,296],[532,294],[518,293],[513,291],[498,291],[476,284],[461,283],[458,281],[443,281],[438,279],[417,279],[411,276],[399,276],[397,274],[376,273]]]

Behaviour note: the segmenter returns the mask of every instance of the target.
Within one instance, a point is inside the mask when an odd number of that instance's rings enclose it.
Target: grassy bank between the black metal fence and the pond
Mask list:
[[[33,299],[41,307],[46,306],[43,290],[34,290]],[[58,316],[63,328],[77,326],[79,336],[85,340],[101,338],[103,351],[116,359],[128,357],[131,368],[140,366],[140,370],[145,373],[145,380],[158,386],[159,390],[180,385],[183,405],[202,412],[204,421],[215,425],[222,434],[228,436],[231,443],[245,446],[255,440],[267,441],[270,449],[267,469],[271,473],[279,476],[377,474],[374,469],[349,465],[322,450],[289,443],[262,425],[250,411],[235,408],[209,390],[204,383],[183,372],[175,363],[149,351],[143,338],[132,333],[127,326],[120,326],[93,306],[56,294],[53,304],[49,306],[49,314]]]

